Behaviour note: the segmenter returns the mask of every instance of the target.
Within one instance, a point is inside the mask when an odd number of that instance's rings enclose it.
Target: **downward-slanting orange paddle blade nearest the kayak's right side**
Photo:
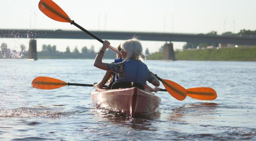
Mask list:
[[[174,98],[181,101],[187,97],[186,89],[179,84],[167,79],[162,79],[161,82],[163,83],[163,86],[165,87],[167,92],[170,93],[171,96],[173,96]]]

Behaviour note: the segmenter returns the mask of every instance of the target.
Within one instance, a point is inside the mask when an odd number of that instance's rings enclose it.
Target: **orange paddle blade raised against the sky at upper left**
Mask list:
[[[38,7],[39,10],[53,20],[72,23],[68,15],[52,0],[40,0]]]

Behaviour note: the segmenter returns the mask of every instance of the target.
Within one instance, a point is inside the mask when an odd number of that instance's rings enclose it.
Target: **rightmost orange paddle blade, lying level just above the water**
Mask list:
[[[189,97],[199,100],[214,100],[217,97],[217,93],[212,88],[199,87],[187,89]]]

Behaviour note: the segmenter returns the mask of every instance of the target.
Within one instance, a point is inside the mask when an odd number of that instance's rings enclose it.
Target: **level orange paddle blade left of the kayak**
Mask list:
[[[36,77],[32,81],[32,87],[36,89],[43,89],[43,90],[51,90],[51,89],[56,89],[60,88],[63,86],[68,85],[68,83],[61,81],[59,79],[55,78],[50,78],[50,77],[44,77],[44,76],[39,76]]]

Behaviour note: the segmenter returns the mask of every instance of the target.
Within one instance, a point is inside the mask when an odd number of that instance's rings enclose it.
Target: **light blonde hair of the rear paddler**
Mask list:
[[[142,54],[142,45],[135,36],[133,36],[132,39],[123,41],[121,48],[123,48],[127,53],[126,59],[134,57],[138,58],[142,62],[146,60],[145,55]]]

